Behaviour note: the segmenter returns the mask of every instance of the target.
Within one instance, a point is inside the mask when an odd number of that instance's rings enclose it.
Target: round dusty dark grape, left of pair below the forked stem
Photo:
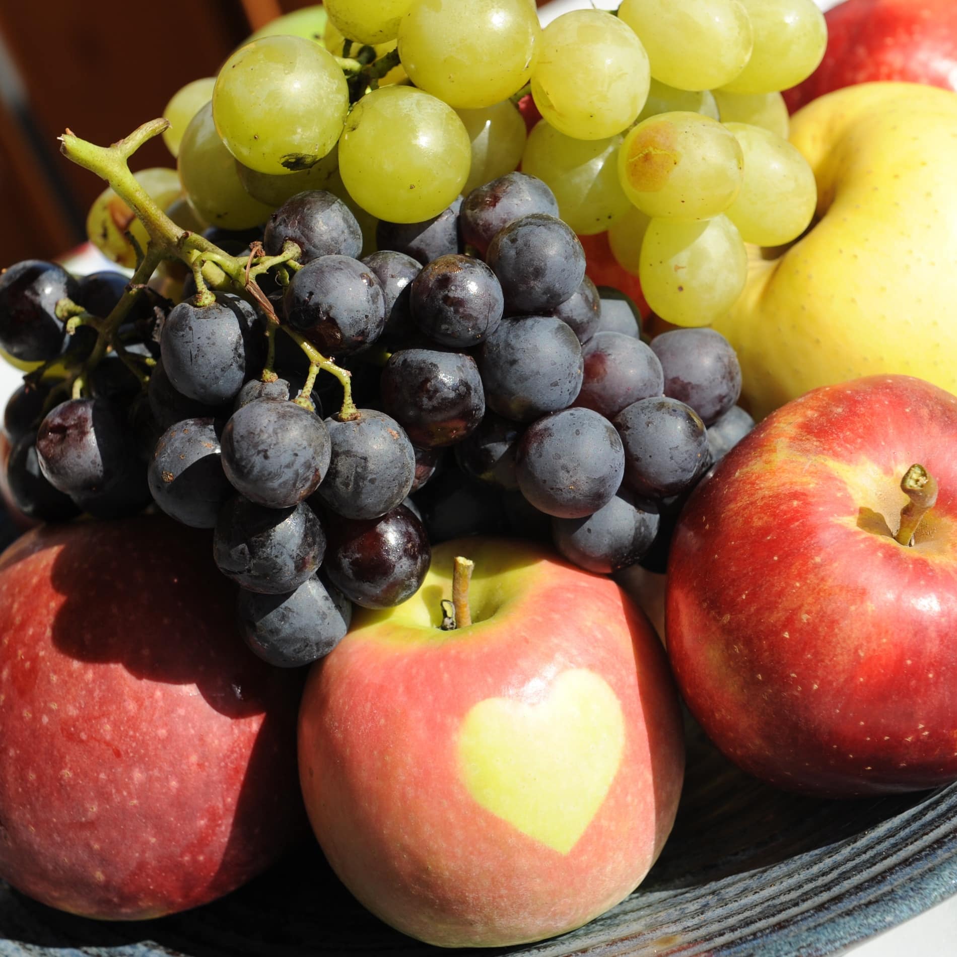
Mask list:
[[[290,508],[312,495],[331,456],[323,420],[278,399],[256,399],[234,412],[221,445],[227,479],[268,508]]]

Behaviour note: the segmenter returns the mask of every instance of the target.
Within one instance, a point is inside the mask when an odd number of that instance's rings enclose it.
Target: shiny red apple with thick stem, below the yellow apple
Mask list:
[[[915,463],[940,492],[899,545]],[[750,773],[840,797],[957,778],[957,398],[884,375],[773,412],[688,502],[665,620],[688,707]]]

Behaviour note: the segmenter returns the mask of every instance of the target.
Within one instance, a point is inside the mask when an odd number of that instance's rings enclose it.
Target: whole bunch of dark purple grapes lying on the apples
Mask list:
[[[262,236],[300,248],[284,288],[260,283],[291,333],[272,352],[264,297],[200,304],[189,278],[178,303],[145,290],[87,363],[125,278],[18,263],[0,277],[0,348],[43,366],[5,413],[11,497],[37,521],[158,507],[211,529],[239,631],[287,667],[328,653],[353,604],[405,601],[450,538],[550,538],[592,571],[659,568],[680,505],[753,425],[740,367],[708,329],[649,345],[557,212],[510,173],[427,223],[379,223],[360,259],[345,205],[300,193]],[[236,253],[258,238],[216,236]],[[83,310],[72,333],[65,300]],[[349,373],[352,403],[299,338]]]

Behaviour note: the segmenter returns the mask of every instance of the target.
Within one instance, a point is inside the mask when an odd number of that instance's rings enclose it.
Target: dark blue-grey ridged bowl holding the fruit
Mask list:
[[[957,785],[824,801],[747,777],[688,719],[675,831],[641,887],[580,930],[486,953],[831,954],[945,900],[957,881]],[[221,901],[148,923],[106,924],[0,889],[0,954],[220,957],[440,952],[380,923],[312,842]],[[483,951],[470,950],[479,954]]]

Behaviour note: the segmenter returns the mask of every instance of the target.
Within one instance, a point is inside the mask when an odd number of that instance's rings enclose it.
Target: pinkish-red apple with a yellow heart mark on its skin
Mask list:
[[[475,624],[438,629],[456,554]],[[369,910],[440,946],[585,924],[644,878],[684,765],[674,685],[610,579],[528,543],[434,549],[422,589],[309,676],[300,778],[323,851]]]

